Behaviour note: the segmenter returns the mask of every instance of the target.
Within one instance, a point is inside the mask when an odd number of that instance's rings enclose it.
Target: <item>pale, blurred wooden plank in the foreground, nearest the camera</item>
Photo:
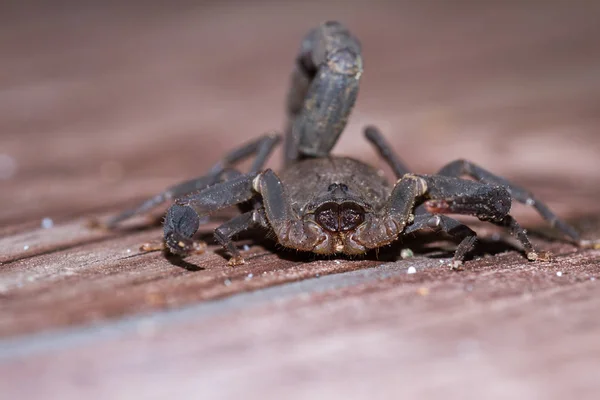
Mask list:
[[[600,286],[590,278],[598,277],[599,259],[599,251],[565,256],[570,269],[560,277],[556,265],[524,265],[515,255],[461,274],[421,270],[428,265],[422,262],[419,272],[406,274],[405,262],[392,271],[388,265],[387,277],[367,275],[349,286],[336,288],[344,274],[334,275],[305,281],[300,294],[290,296],[288,288],[259,302],[234,296],[232,307],[208,303],[212,313],[196,306],[123,321],[113,332],[108,325],[34,336],[9,343],[0,372],[5,383],[37,374],[36,385],[2,389],[23,398],[152,398],[168,391],[207,398],[591,399],[600,325],[590,316]],[[323,291],[314,281],[327,278]]]

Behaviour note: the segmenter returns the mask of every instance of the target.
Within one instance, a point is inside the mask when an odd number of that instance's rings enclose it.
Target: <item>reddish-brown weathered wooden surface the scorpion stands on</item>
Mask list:
[[[597,398],[600,251],[524,206],[554,260],[467,220],[462,272],[432,237],[348,261],[252,236],[230,268],[215,246],[141,253],[161,234],[143,218],[87,226],[280,129],[302,35],[336,18],[365,57],[336,153],[383,167],[374,123],[415,171],[472,159],[598,238],[597,5],[159,4],[0,10],[0,397]]]

